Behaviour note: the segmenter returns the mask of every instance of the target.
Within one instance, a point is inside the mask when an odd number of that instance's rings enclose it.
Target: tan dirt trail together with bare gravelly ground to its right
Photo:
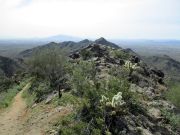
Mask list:
[[[31,83],[28,83],[15,96],[12,105],[0,113],[0,135],[45,135],[53,121],[72,112],[70,105],[54,108],[50,104],[43,103],[34,108],[36,111],[32,108],[28,109],[22,93],[30,85]]]

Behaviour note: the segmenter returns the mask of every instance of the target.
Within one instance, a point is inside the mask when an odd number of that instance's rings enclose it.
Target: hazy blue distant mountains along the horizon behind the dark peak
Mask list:
[[[74,41],[78,42],[83,40],[84,38],[76,37],[76,36],[70,36],[70,35],[54,35],[49,37],[41,37],[41,38],[14,38],[14,39],[0,39],[0,45],[1,44],[23,44],[23,43],[48,43],[48,42],[64,42],[64,41]],[[91,38],[91,40],[95,40],[94,38]],[[180,45],[180,40],[175,39],[114,39],[110,38],[109,41],[116,43],[116,44],[122,44],[124,45]]]

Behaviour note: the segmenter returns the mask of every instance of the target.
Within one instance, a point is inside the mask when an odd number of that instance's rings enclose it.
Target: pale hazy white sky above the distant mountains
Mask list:
[[[0,0],[0,38],[180,39],[180,0]]]

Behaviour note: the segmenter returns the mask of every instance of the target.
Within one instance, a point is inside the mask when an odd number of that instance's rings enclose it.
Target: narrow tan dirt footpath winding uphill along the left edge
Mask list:
[[[19,131],[23,128],[22,117],[26,112],[26,103],[22,98],[22,93],[30,85],[30,83],[26,84],[15,96],[10,108],[0,114],[0,135],[19,135]]]

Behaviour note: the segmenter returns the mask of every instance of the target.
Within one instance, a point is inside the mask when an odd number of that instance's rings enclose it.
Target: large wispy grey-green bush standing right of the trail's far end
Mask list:
[[[58,48],[37,51],[27,60],[29,71],[37,78],[47,78],[52,87],[57,87],[65,74],[66,57]]]

